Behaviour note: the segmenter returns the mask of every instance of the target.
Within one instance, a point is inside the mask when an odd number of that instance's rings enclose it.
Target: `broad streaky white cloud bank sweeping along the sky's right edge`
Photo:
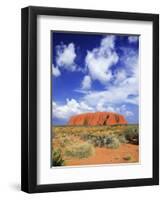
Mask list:
[[[123,49],[124,56],[121,60],[123,70],[118,70],[113,78],[112,84],[106,86],[102,91],[90,91],[83,98],[90,104],[103,102],[107,104],[131,103],[138,104],[139,101],[139,67],[138,54],[130,49]]]

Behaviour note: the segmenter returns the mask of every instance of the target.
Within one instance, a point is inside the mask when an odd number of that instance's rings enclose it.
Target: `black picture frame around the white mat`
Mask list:
[[[37,16],[71,16],[153,23],[153,177],[37,184]],[[159,184],[159,15],[30,6],[21,11],[21,190],[28,193]]]

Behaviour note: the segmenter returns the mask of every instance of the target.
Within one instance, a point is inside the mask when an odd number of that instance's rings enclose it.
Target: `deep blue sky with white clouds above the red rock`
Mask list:
[[[52,33],[52,123],[108,111],[138,123],[139,36]]]

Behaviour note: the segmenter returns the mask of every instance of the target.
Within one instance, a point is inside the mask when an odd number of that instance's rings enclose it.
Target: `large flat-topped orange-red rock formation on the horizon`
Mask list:
[[[85,113],[72,116],[68,122],[68,125],[116,125],[127,124],[127,121],[123,115],[112,112],[95,112]]]

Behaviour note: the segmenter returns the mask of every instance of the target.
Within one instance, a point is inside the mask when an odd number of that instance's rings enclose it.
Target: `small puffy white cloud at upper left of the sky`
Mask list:
[[[61,44],[56,47],[56,63],[58,67],[63,67],[69,71],[75,71],[75,45],[69,43],[68,45]]]

